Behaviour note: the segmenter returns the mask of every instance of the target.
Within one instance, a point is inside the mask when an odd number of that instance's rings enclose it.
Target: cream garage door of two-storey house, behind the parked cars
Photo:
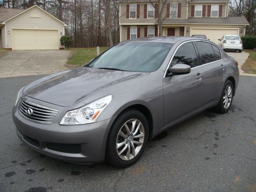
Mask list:
[[[223,35],[238,35],[238,29],[200,29],[200,28],[191,28],[191,35],[206,35],[208,39],[214,41],[216,44],[219,44],[218,39]]]

